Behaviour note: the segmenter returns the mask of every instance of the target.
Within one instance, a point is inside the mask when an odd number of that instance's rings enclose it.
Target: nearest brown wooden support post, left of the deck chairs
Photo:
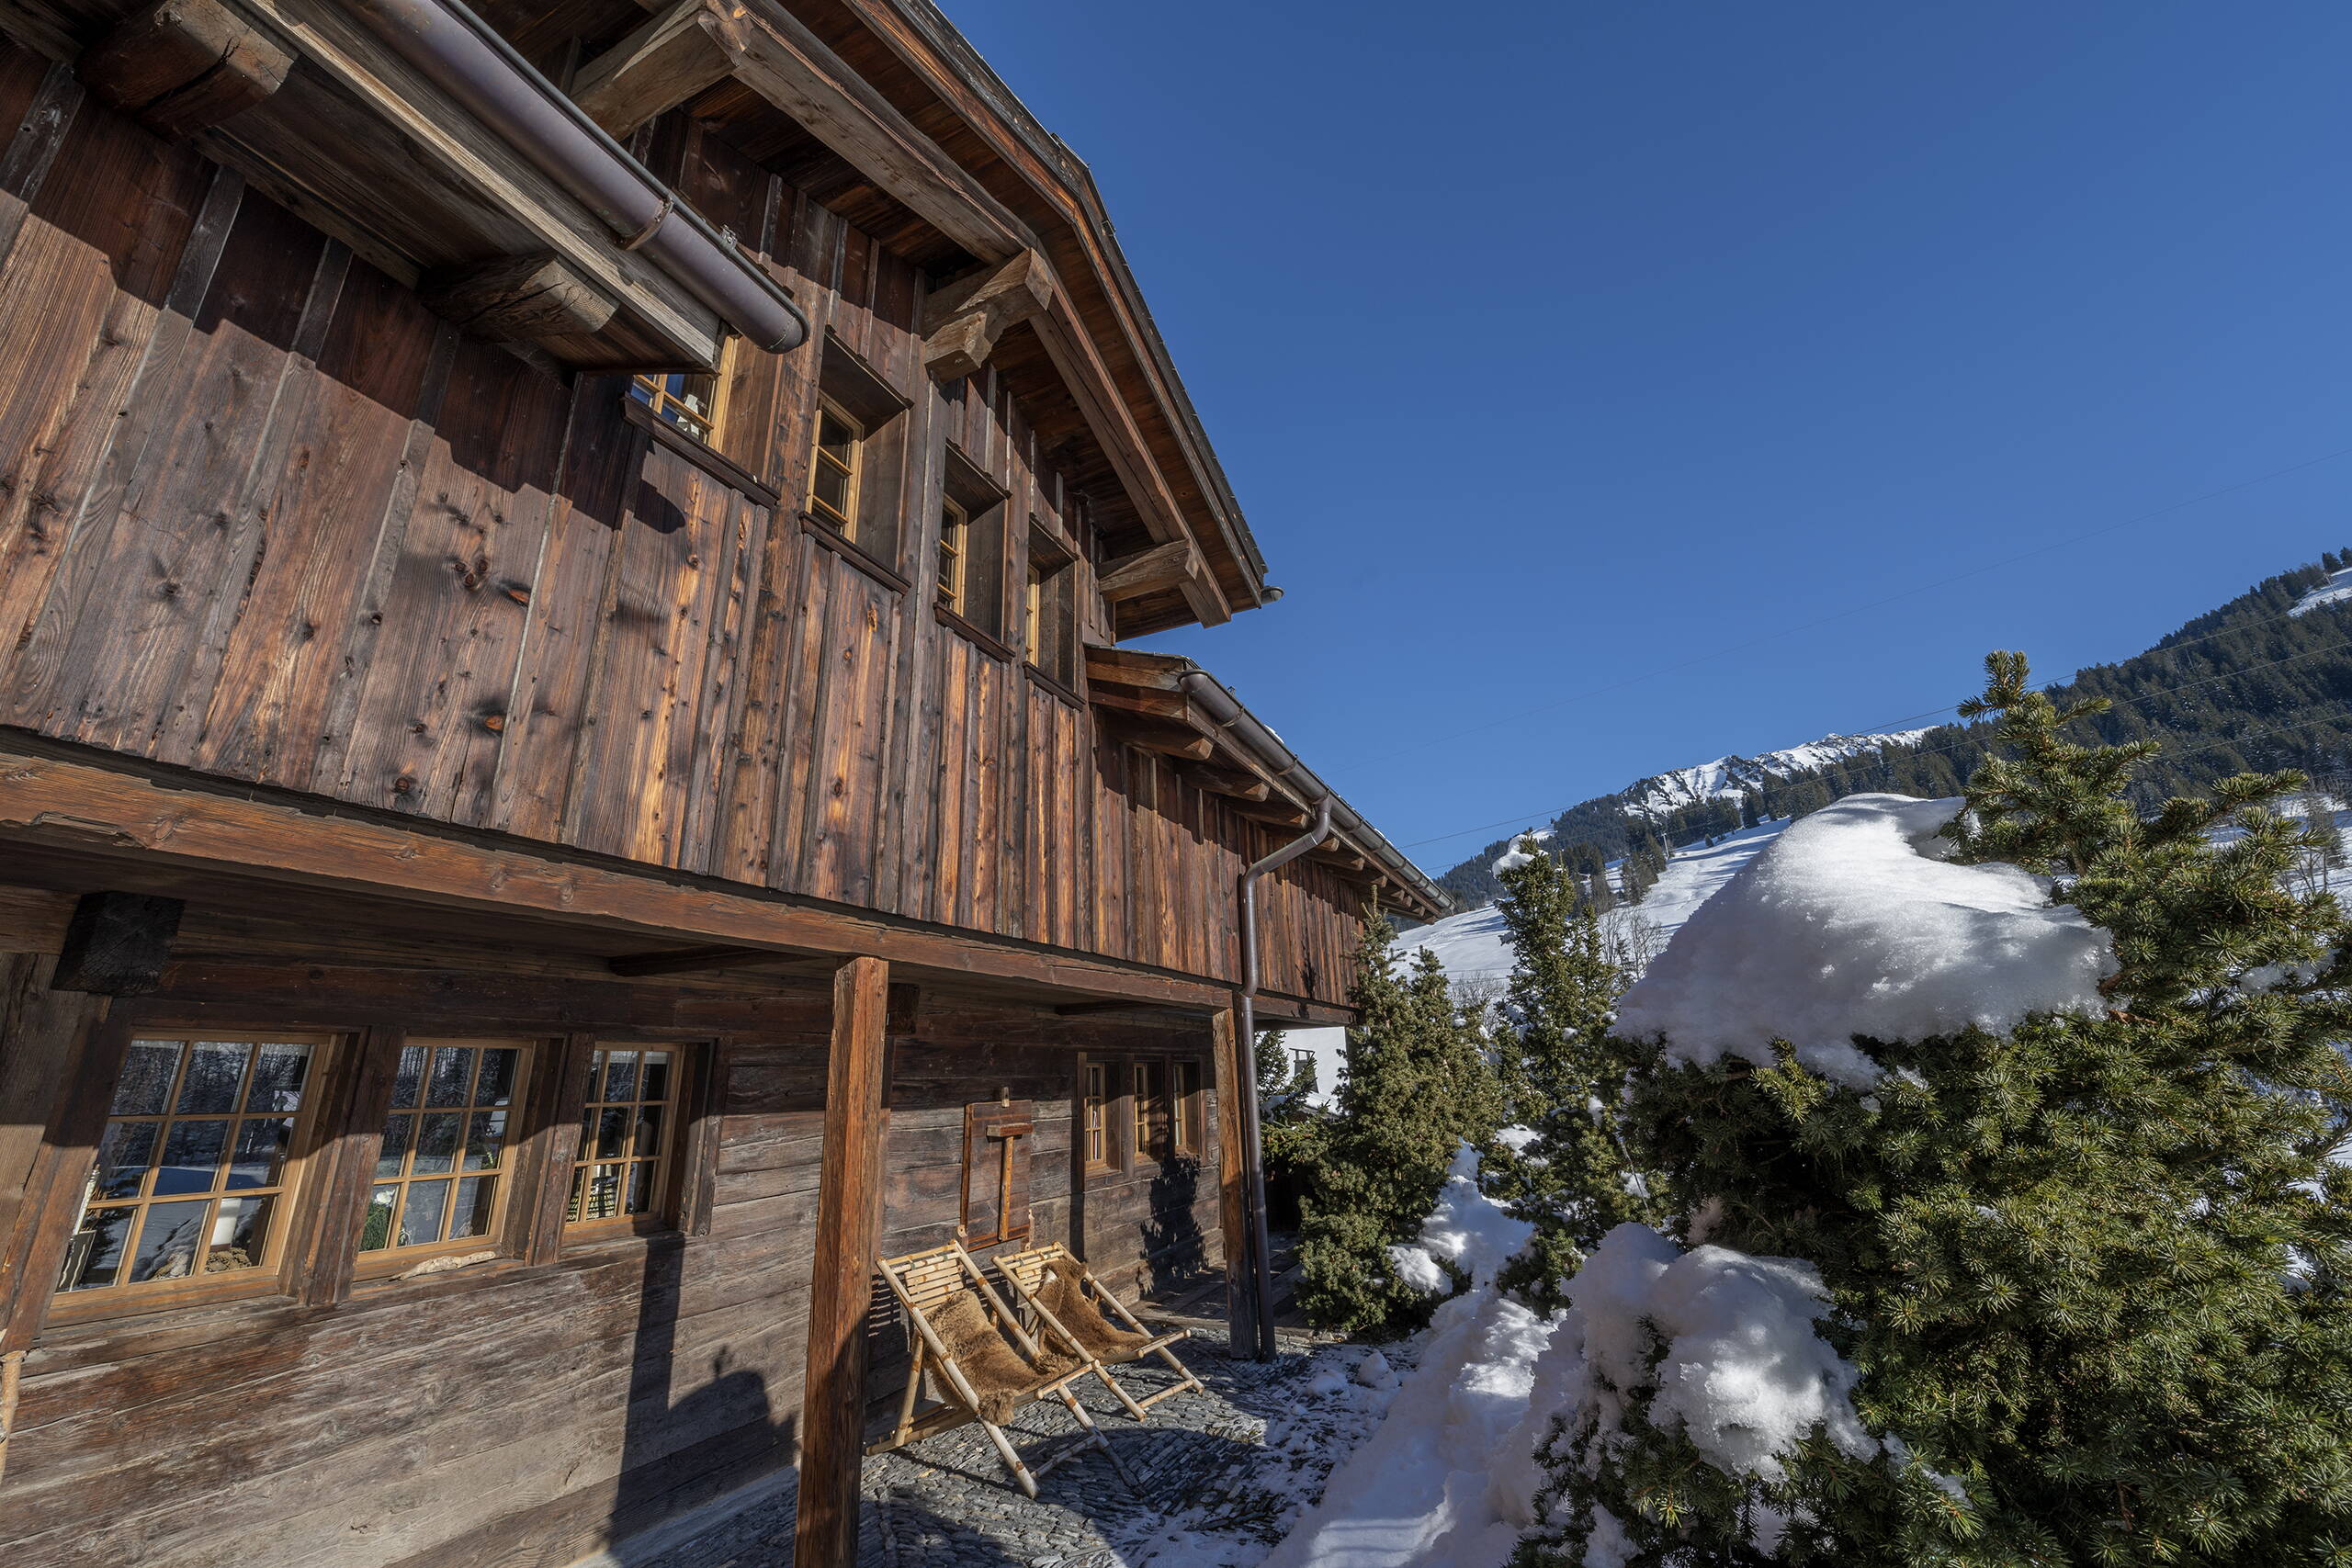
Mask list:
[[[851,1568],[858,1559],[858,1462],[866,1453],[866,1309],[882,1211],[884,1039],[889,964],[849,959],[833,973],[833,1058],[816,1185],[809,1279],[809,1371],[800,1392],[800,1500],[793,1561]]]

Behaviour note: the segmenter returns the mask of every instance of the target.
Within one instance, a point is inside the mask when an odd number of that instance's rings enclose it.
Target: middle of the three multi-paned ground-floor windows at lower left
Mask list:
[[[360,1265],[407,1267],[435,1251],[482,1248],[508,1204],[506,1152],[520,1133],[529,1041],[409,1039],[360,1222]]]

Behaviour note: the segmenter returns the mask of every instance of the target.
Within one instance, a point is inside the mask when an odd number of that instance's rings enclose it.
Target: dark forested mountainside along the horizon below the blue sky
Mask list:
[[[2143,806],[2249,769],[2296,766],[2343,785],[2352,773],[2352,550],[2331,550],[2321,564],[2267,578],[2150,651],[2077,670],[2049,691],[2060,701],[2110,698],[2114,710],[2098,719],[2103,741],[2164,743],[2140,773],[2136,797]],[[1912,743],[1882,743],[1790,769],[1738,797],[1665,816],[1637,809],[1656,797],[1653,780],[1644,778],[1552,818],[1555,853],[1571,865],[1625,858],[1639,882],[1665,863],[1670,846],[1766,816],[1804,816],[1842,795],[1959,795],[1985,755],[1983,731],[1983,724],[1943,724]],[[1496,839],[1439,882],[1463,905],[1491,903],[1501,889],[1494,860],[1508,846],[1510,839]]]

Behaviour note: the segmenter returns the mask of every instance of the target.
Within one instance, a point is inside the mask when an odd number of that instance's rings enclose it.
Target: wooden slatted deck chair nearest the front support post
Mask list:
[[[910,1363],[906,1368],[906,1399],[898,1401],[898,1427],[887,1439],[870,1443],[866,1453],[887,1453],[978,1422],[988,1429],[988,1441],[997,1446],[1004,1469],[1030,1497],[1037,1495],[1037,1476],[1089,1448],[1101,1448],[1134,1490],[1134,1479],[1120,1465],[1120,1455],[1110,1450],[1094,1415],[1070,1392],[1070,1382],[1087,1375],[1087,1363],[1042,1349],[988,1286],[988,1276],[981,1274],[981,1265],[974,1262],[962,1241],[906,1258],[884,1258],[880,1269],[906,1312]],[[931,1368],[938,1406],[917,1415],[924,1368]],[[1070,1408],[1080,1434],[1037,1469],[1030,1469],[1004,1434],[1004,1422],[1049,1394]]]

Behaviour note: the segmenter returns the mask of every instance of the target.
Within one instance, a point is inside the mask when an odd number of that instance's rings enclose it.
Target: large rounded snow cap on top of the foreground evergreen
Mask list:
[[[1849,795],[1773,837],[1691,912],[1625,992],[1618,1030],[1668,1060],[1771,1065],[1785,1039],[1813,1072],[1867,1088],[1853,1037],[2006,1032],[2027,1013],[2098,1011],[2105,931],[2049,903],[2016,865],[1950,865],[1957,799]]]

